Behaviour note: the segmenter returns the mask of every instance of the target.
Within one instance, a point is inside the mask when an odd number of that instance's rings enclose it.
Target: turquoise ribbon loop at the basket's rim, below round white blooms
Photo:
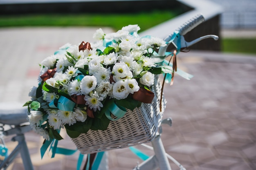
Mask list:
[[[115,104],[115,102],[113,102],[110,107],[105,111],[105,115],[106,117],[108,117],[108,119],[112,120],[112,121],[116,121],[122,117],[124,117],[125,113],[126,113],[126,108],[122,107],[122,106],[118,106],[117,104]],[[111,117],[111,113],[113,115],[115,115],[115,119],[113,119]]]

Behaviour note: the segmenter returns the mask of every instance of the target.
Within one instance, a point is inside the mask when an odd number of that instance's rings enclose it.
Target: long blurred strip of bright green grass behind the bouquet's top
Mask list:
[[[0,15],[0,27],[10,26],[110,26],[116,31],[128,24],[138,24],[141,31],[170,20],[181,11],[150,11],[140,13],[98,14],[34,14]]]

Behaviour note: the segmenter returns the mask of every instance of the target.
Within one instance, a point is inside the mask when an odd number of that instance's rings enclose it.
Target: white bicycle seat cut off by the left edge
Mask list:
[[[27,107],[15,102],[0,103],[0,124],[20,125],[27,121]]]

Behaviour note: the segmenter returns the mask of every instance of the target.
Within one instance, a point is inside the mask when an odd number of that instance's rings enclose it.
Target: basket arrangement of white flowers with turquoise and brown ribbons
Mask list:
[[[93,35],[95,42],[65,44],[45,58],[40,63],[39,85],[31,88],[31,101],[25,104],[32,129],[51,141],[63,139],[59,130],[65,128],[81,149],[83,145],[95,146],[92,141],[96,139],[106,148],[126,145],[124,138],[128,138],[127,145],[132,145],[132,139],[139,143],[143,141],[136,139],[136,134],[143,131],[139,126],[148,128],[139,136],[151,133],[143,142],[150,141],[165,104],[157,75],[172,73],[173,68],[162,64],[165,56],[156,52],[166,42],[152,36],[140,37],[139,29],[128,25],[108,34],[98,29]],[[138,122],[140,115],[146,117],[143,123]],[[121,129],[124,124],[129,127]],[[99,133],[103,136],[99,137]],[[115,134],[126,137],[113,137]],[[81,137],[90,144],[79,144],[76,140]],[[111,145],[116,140],[121,144],[106,146],[105,139]],[[97,150],[102,148],[90,152]]]

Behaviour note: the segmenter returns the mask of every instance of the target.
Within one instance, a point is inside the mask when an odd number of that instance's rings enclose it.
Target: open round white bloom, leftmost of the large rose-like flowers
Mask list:
[[[97,79],[94,75],[85,75],[81,80],[80,87],[83,95],[88,95],[97,86]]]

